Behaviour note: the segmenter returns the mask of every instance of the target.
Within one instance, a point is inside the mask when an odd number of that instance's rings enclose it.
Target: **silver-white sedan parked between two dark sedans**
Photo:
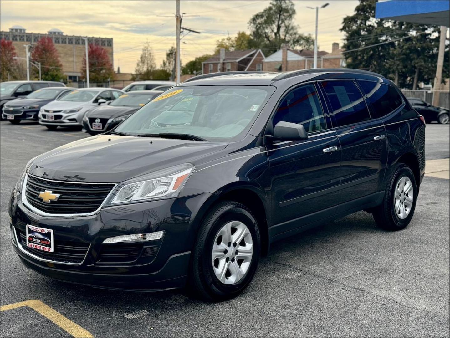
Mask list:
[[[50,130],[58,126],[81,126],[85,113],[108,101],[117,99],[123,92],[111,88],[82,88],[40,108],[39,124]]]

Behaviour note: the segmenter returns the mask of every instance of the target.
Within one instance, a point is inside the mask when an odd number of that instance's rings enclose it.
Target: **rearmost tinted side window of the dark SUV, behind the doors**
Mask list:
[[[358,81],[358,83],[374,108],[373,118],[383,117],[403,104],[400,94],[392,86],[369,81]]]

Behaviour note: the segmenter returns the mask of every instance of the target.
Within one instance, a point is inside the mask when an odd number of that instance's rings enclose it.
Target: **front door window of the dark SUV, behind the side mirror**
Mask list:
[[[307,132],[326,129],[314,85],[297,87],[284,97],[275,114],[273,125],[280,121],[301,124]]]

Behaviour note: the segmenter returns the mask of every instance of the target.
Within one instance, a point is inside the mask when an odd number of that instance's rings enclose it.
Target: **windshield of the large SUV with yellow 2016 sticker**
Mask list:
[[[230,140],[248,131],[273,90],[269,86],[173,88],[139,109],[115,131]]]

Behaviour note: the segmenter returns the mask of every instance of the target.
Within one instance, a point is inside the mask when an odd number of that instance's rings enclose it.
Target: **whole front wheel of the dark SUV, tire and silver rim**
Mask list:
[[[198,231],[190,284],[204,300],[224,301],[250,284],[258,266],[261,239],[252,212],[225,201],[208,213]]]

